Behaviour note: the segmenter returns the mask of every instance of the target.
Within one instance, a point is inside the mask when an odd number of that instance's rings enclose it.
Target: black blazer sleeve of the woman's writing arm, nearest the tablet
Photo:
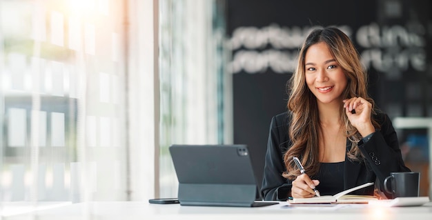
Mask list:
[[[286,114],[279,114],[271,120],[264,175],[260,189],[264,200],[286,201],[291,191],[291,181],[282,177],[282,172],[286,170],[283,154],[288,142],[286,120]]]

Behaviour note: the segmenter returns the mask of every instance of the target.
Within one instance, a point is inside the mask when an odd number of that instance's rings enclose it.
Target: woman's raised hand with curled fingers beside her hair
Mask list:
[[[343,102],[348,120],[363,137],[375,132],[371,122],[372,104],[369,101],[362,97],[354,97]]]

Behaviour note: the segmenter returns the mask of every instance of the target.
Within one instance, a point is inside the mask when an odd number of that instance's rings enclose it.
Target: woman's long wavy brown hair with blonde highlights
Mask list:
[[[292,146],[284,154],[286,171],[282,175],[291,180],[300,174],[293,162],[293,157],[298,157],[302,161],[306,173],[311,176],[317,174],[320,169],[318,152],[318,134],[321,132],[320,119],[317,100],[306,85],[304,63],[308,48],[320,42],[327,44],[333,58],[344,70],[348,79],[348,84],[342,93],[342,99],[362,97],[372,104],[372,112],[376,114],[375,102],[367,92],[366,70],[364,70],[360,55],[349,37],[341,30],[333,27],[313,30],[303,43],[298,57],[297,69],[287,83],[289,94],[287,106],[288,113],[291,114],[288,134]],[[351,149],[347,152],[347,156],[351,161],[361,162],[363,156],[357,147],[357,143],[362,139],[362,135],[351,125],[344,111],[341,103],[340,121],[346,137],[351,141]],[[372,115],[371,120],[375,128],[380,127]]]

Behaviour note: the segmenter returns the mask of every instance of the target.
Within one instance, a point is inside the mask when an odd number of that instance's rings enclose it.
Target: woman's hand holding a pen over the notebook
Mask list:
[[[315,197],[313,188],[320,184],[320,181],[311,180],[307,174],[301,174],[293,182],[291,186],[291,197],[293,198],[311,198]]]

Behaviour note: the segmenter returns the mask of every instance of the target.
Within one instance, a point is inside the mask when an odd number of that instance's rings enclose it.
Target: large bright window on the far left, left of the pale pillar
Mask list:
[[[0,4],[2,206],[125,200],[125,3]]]

